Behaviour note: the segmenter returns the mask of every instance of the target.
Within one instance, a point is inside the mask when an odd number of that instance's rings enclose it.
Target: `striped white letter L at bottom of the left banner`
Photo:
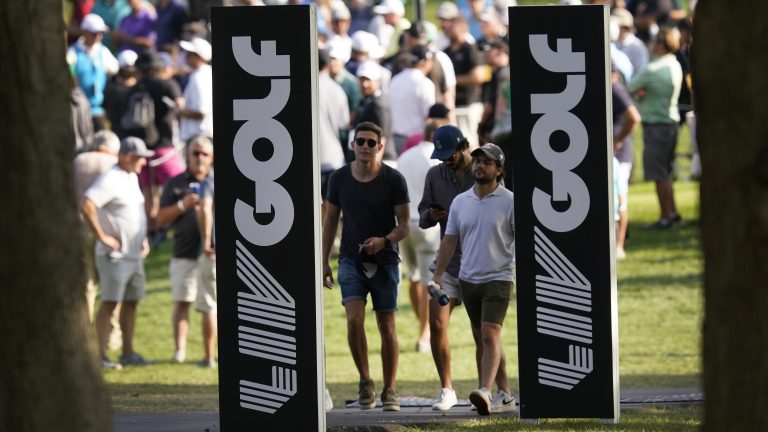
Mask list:
[[[240,406],[272,414],[296,394],[296,371],[272,366],[272,385],[240,380]]]

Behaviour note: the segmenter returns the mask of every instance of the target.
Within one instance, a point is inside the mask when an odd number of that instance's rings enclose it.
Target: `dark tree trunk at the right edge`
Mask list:
[[[768,2],[696,9],[705,431],[768,430],[767,23]]]

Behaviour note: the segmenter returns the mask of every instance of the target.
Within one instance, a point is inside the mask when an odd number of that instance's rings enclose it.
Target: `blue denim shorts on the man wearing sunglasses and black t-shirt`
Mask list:
[[[396,311],[400,264],[380,264],[377,271],[386,272],[388,277],[368,279],[357,270],[354,260],[349,258],[339,260],[339,273],[336,279],[341,287],[341,304],[357,299],[362,299],[365,302],[368,293],[371,293],[373,310],[379,312]]]

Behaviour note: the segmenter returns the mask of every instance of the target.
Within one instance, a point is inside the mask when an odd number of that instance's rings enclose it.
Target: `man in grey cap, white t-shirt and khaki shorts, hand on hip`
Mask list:
[[[144,258],[149,254],[144,196],[137,174],[147,164],[146,158],[154,154],[139,138],[123,139],[117,164],[88,188],[80,207],[83,220],[97,239],[94,257],[101,305],[96,313],[96,335],[101,366],[107,369],[147,364],[133,350],[136,306],[144,297]],[[114,363],[107,357],[107,343],[110,318],[118,303],[123,355]]]

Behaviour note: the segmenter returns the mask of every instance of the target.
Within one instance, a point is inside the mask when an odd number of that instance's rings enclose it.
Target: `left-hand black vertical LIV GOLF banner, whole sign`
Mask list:
[[[212,11],[223,431],[325,431],[315,14]]]

